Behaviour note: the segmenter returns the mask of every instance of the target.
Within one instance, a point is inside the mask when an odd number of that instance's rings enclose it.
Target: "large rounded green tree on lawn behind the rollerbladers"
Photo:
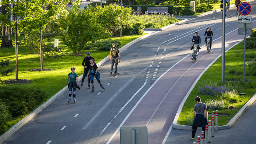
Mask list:
[[[60,15],[58,19],[59,34],[63,43],[73,49],[76,56],[89,41],[107,38],[106,31],[98,20],[96,14],[90,9],[80,10],[80,2],[73,3],[72,8],[67,8],[68,13]]]

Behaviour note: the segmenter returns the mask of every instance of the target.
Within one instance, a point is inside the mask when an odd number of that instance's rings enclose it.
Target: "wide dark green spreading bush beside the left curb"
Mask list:
[[[31,88],[9,88],[0,92],[0,99],[13,117],[27,114],[46,98],[45,93]]]

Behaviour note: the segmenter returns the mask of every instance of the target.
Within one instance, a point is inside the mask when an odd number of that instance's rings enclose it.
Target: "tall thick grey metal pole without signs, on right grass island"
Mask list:
[[[226,1],[223,0],[222,10],[222,43],[221,43],[221,84],[225,83],[225,13]]]

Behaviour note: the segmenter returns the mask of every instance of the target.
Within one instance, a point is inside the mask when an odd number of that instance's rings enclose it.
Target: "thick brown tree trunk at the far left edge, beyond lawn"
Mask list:
[[[2,14],[5,15],[6,11],[5,8],[8,5],[2,5]],[[2,21],[2,43],[1,47],[13,47],[12,45],[12,35],[11,35],[11,28],[9,26],[5,26],[4,21]]]

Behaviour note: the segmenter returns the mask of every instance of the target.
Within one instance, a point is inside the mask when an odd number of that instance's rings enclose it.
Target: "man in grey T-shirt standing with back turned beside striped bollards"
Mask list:
[[[206,104],[201,102],[200,97],[195,98],[197,104],[194,106],[194,112],[193,112],[193,125],[192,125],[192,136],[190,140],[195,139],[195,134],[196,134],[196,129],[198,126],[201,126],[203,131],[204,131],[204,138],[205,138],[205,125],[207,124],[208,121],[208,112],[207,112],[207,106]],[[205,114],[205,117],[204,117]]]

